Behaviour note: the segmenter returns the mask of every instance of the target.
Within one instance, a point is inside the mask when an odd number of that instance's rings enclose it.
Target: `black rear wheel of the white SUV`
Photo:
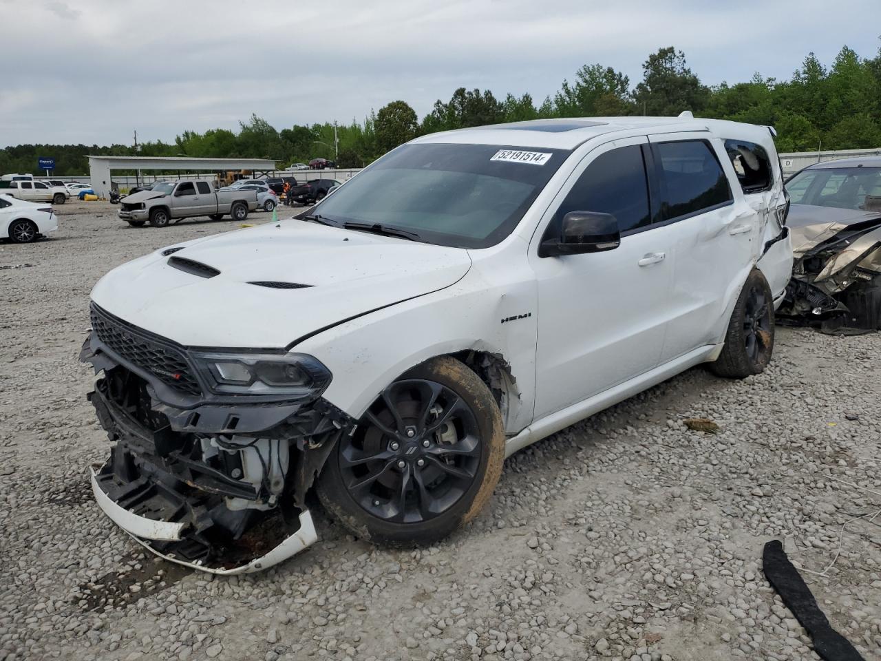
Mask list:
[[[709,368],[715,375],[743,379],[760,374],[774,353],[774,294],[753,269],[737,297],[722,353]]]

